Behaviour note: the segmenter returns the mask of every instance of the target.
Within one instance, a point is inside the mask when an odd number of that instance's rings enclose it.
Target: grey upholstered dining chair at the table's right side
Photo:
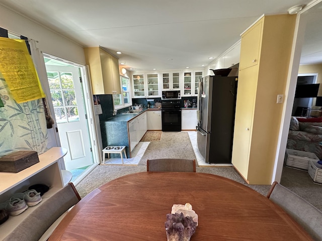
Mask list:
[[[322,212],[319,209],[278,182],[273,182],[267,198],[292,216],[312,238],[322,240]]]

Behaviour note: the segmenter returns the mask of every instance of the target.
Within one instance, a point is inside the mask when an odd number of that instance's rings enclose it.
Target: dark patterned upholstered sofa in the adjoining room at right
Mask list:
[[[312,152],[321,160],[322,146],[319,145],[320,142],[322,142],[322,117],[291,117],[286,148]]]

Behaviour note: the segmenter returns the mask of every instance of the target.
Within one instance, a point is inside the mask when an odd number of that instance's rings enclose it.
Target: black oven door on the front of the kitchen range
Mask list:
[[[181,109],[162,110],[162,131],[181,132]]]

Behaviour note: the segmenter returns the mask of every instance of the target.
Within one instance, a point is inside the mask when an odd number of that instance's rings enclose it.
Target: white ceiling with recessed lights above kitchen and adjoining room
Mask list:
[[[133,71],[204,68],[263,14],[286,14],[311,0],[0,0],[83,47],[101,46]],[[318,15],[315,15],[315,17]],[[322,15],[311,28],[322,28]],[[313,20],[312,20],[313,21]],[[314,19],[316,21],[316,18]],[[317,24],[319,23],[319,24]],[[312,31],[312,30],[311,30]],[[322,32],[322,30],[321,30]],[[319,32],[319,33],[321,33]],[[314,36],[321,39],[316,31]],[[322,51],[307,38],[306,60]],[[321,41],[321,40],[320,40]],[[320,45],[322,46],[322,45]],[[319,50],[322,50],[319,47]],[[57,56],[59,57],[59,56]]]

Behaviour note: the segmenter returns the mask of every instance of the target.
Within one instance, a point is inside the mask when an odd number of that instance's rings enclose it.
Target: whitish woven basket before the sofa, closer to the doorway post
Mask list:
[[[314,153],[286,149],[286,166],[308,170],[309,161],[317,162],[319,159]]]

